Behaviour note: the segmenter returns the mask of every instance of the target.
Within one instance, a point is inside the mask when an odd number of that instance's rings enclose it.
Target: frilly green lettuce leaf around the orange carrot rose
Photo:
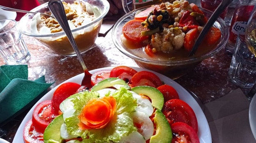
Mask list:
[[[98,92],[79,93],[71,101],[74,103],[74,114],[65,119],[67,131],[69,134],[81,136],[82,143],[112,143],[120,141],[122,136],[137,130],[133,125],[132,112],[137,107],[137,100],[133,98],[130,91],[121,88],[114,93],[105,96],[113,96],[117,101],[117,109],[111,121],[102,129],[79,130],[78,115],[84,105],[92,98],[98,98]]]

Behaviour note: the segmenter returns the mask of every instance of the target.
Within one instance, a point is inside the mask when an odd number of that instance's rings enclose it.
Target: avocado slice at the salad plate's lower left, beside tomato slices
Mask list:
[[[60,127],[63,123],[62,114],[51,121],[43,133],[43,141],[45,143],[62,143],[63,139],[60,136]]]

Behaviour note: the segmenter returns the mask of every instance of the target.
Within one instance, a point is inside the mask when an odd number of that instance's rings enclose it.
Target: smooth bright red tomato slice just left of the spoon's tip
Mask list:
[[[55,92],[53,93],[52,103],[53,103],[53,109],[55,109],[55,112],[59,112],[59,105],[69,96],[75,94],[75,92],[80,88],[81,85],[78,83],[63,83],[60,85]]]

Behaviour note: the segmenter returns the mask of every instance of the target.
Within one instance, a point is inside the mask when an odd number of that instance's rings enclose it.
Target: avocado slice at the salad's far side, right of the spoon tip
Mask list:
[[[119,89],[121,86],[125,87],[126,89],[130,89],[129,85],[121,78],[107,78],[101,80],[96,85],[91,87],[91,91],[96,92],[107,87],[114,87],[116,89]]]

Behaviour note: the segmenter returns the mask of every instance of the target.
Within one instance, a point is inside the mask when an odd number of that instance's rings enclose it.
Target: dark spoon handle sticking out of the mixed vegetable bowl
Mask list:
[[[201,41],[203,40],[203,37],[206,36],[207,32],[209,31],[210,27],[213,26],[214,22],[217,20],[219,15],[223,12],[223,10],[232,2],[233,0],[222,0],[222,2],[219,4],[217,9],[213,12],[212,16],[206,23],[206,25],[203,27],[203,30],[199,34],[196,42],[194,43],[194,46],[192,47],[192,50],[190,51],[189,56],[192,56],[197,51],[197,48],[199,47]]]

